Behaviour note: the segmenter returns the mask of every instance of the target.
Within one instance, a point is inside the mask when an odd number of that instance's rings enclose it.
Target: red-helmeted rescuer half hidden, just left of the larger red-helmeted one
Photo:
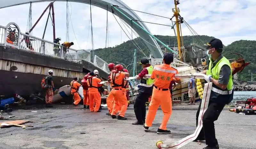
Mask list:
[[[108,69],[110,70],[110,74],[108,76],[108,83],[110,83],[110,86],[112,88],[113,83],[112,83],[112,73],[115,70],[115,64],[114,63],[109,63],[108,64]],[[107,106],[108,106],[108,113],[107,115],[111,115],[113,106],[114,106],[114,96],[112,90],[109,92],[108,97],[107,97]]]

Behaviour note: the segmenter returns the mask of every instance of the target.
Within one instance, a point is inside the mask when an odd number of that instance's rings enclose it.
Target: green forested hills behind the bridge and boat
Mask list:
[[[155,36],[158,39],[160,39],[163,43],[166,43],[171,47],[177,46],[177,42],[175,42],[176,38],[174,36],[162,36],[162,35],[155,35]],[[189,46],[190,43],[194,42],[198,45],[203,45],[203,42],[207,43],[211,38],[213,37],[206,36],[206,35],[183,36],[183,44],[184,46]],[[142,51],[145,53],[145,55],[149,57],[150,52],[145,47],[144,41],[141,38],[135,38],[134,40],[142,49]],[[131,40],[124,42],[120,45],[116,45],[115,47],[96,49],[94,52],[97,56],[99,56],[101,59],[105,60],[108,63],[114,62],[115,64],[117,64],[116,62],[120,62],[127,66],[133,63],[134,49],[137,49],[137,53],[136,53],[137,62],[140,61],[141,58],[146,57],[138,48],[136,48],[136,46],[132,43]],[[256,68],[255,66],[256,53],[254,52],[255,50],[256,50],[256,41],[246,41],[246,40],[236,41],[224,47],[223,54],[228,59],[237,58],[237,55],[232,54],[232,52],[237,52],[244,56],[244,59],[246,62],[247,61],[252,62],[249,66],[245,67],[245,69],[241,74],[238,74],[238,79],[241,79],[244,81],[251,80],[251,70]],[[130,73],[132,73],[132,65],[130,66],[131,67],[130,68],[128,67],[129,68],[128,70]],[[138,64],[137,73],[140,72],[140,70],[141,70],[141,67]],[[256,77],[256,74],[254,76]],[[256,80],[256,78],[254,80]]]

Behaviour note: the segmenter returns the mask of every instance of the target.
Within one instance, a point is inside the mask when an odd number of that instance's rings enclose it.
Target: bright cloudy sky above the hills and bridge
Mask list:
[[[131,9],[157,14],[171,18],[174,7],[173,0],[122,0]],[[49,2],[32,4],[32,25],[36,22]],[[178,5],[180,15],[199,35],[214,36],[228,45],[237,40],[256,40],[256,0],[180,0]],[[55,27],[56,37],[61,37],[61,42],[68,39],[66,27],[66,2],[55,2]],[[2,14],[0,25],[6,26],[9,22],[15,22],[25,33],[28,30],[29,4],[12,6],[0,9]],[[8,15],[3,15],[8,14]],[[136,12],[142,21],[172,25],[169,19]],[[32,35],[42,38],[48,11],[33,29]],[[92,49],[92,35],[90,24],[90,5],[69,2],[69,40],[74,42],[74,49]],[[116,16],[118,22],[124,24]],[[92,6],[93,49],[106,46],[107,11]],[[167,26],[145,23],[153,35],[171,35],[174,31]],[[72,27],[73,25],[73,27]],[[107,46],[113,47],[121,44],[129,38],[122,31],[111,12],[108,12],[109,37]],[[74,30],[73,30],[74,28]],[[128,27],[126,27],[128,29]],[[124,28],[126,31],[126,29]],[[129,29],[128,29],[129,30]],[[130,33],[126,31],[130,36]],[[182,24],[182,35],[192,35],[188,27]],[[133,34],[133,38],[135,35]],[[52,22],[49,19],[45,33],[45,40],[52,41]],[[174,42],[174,41],[173,41]]]

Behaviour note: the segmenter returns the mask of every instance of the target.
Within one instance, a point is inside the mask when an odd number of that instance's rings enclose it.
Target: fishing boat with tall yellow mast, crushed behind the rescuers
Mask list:
[[[175,7],[172,9],[172,12],[174,13],[172,18],[175,18],[175,23],[172,26],[172,29],[174,29],[174,27],[176,26],[176,32],[175,35],[177,37],[177,47],[169,47],[170,49],[167,48],[167,50],[172,51],[173,54],[175,54],[175,58],[173,63],[171,64],[172,67],[176,68],[179,72],[179,74],[189,74],[189,73],[198,73],[202,70],[205,70],[207,68],[206,65],[206,59],[204,57],[207,56],[207,50],[206,47],[202,47],[200,45],[196,45],[194,43],[191,44],[190,48],[185,48],[185,46],[183,45],[183,41],[182,41],[182,33],[181,33],[181,24],[185,23],[187,27],[190,28],[190,30],[193,30],[193,28],[191,28],[188,23],[184,20],[183,17],[180,16],[180,9],[177,7],[177,5],[180,4],[180,2],[178,0],[174,0],[174,5]],[[172,20],[171,18],[171,20]],[[192,34],[196,34],[198,35],[195,31],[194,33],[192,32]],[[203,43],[204,44],[204,43]],[[193,46],[197,47],[197,50],[195,50],[193,48]],[[166,47],[166,46],[165,46]],[[187,46],[189,47],[189,46]],[[200,48],[200,49],[199,49]],[[178,53],[175,52],[174,49],[177,49]],[[164,50],[164,52],[166,52],[166,48]],[[191,58],[191,53],[194,55],[197,55],[196,57],[194,57],[194,60],[189,61],[188,59],[186,59],[187,57]],[[239,53],[234,53],[236,55],[238,55],[238,59],[229,59],[230,61],[230,65],[232,68],[232,75],[235,75],[236,73],[241,73],[244,69],[244,67],[246,67],[247,65],[249,65],[251,62],[245,62],[245,60],[243,59],[243,56]],[[162,64],[163,59],[154,59],[152,58],[152,56],[149,56],[150,59],[150,63],[152,66],[154,65],[160,65]],[[199,60],[200,59],[200,60]],[[193,63],[194,61],[200,61],[199,63],[194,63],[194,65],[192,65],[191,63]],[[179,100],[181,101],[181,103],[187,103],[189,102],[189,97],[188,97],[188,82],[189,82],[189,78],[186,79],[181,79],[181,84],[177,84],[175,89],[172,92],[172,100]],[[195,81],[196,82],[196,81]],[[204,87],[204,79],[201,79],[202,82],[202,87]],[[195,91],[195,98],[196,98],[196,102],[200,101],[200,96],[198,95],[198,92]]]

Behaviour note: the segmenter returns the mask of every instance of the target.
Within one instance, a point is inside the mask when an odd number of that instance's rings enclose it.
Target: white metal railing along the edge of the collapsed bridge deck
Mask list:
[[[16,39],[12,42],[7,42],[7,28],[12,26],[16,28],[15,35]],[[13,27],[14,26],[14,27]],[[44,39],[37,38],[35,36],[23,34],[20,32],[19,26],[14,23],[8,23],[6,27],[0,26],[0,44],[4,46],[10,46],[15,49],[28,50],[43,55],[52,57],[58,57],[61,59],[68,59],[74,62],[85,60],[91,63],[91,52],[86,50],[75,50],[72,48],[65,48],[64,46],[53,43]],[[100,59],[95,55],[94,63],[95,66],[99,67],[103,71],[109,73],[108,63],[103,59]]]

